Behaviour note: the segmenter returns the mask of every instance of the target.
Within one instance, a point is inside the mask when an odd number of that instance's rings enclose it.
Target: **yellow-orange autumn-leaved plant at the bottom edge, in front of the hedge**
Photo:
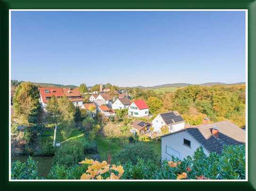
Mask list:
[[[81,180],[89,179],[107,179],[107,180],[118,180],[124,173],[124,168],[119,165],[109,165],[104,160],[99,162],[97,160],[85,159],[80,164],[89,164],[90,166],[86,170],[87,173],[83,173]]]

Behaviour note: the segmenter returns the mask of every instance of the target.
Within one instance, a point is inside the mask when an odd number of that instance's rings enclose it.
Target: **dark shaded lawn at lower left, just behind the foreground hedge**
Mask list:
[[[19,160],[21,162],[26,162],[27,158],[28,156],[16,156],[12,161]],[[46,177],[53,165],[53,157],[32,157],[32,159],[38,161],[38,176]]]

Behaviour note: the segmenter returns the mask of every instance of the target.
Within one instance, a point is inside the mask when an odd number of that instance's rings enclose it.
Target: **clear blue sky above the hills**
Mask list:
[[[88,86],[245,82],[245,12],[13,11],[11,78]]]

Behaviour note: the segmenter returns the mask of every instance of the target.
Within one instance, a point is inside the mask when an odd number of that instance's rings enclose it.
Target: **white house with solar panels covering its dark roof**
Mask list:
[[[177,130],[182,130],[185,128],[185,121],[178,112],[166,112],[158,114],[152,121],[152,127],[155,132],[161,132],[161,128],[167,126],[169,132],[174,132]]]

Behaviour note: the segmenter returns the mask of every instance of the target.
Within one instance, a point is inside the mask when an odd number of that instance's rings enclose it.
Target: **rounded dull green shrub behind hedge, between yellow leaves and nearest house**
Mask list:
[[[124,164],[127,161],[131,161],[132,164],[136,164],[138,161],[138,158],[144,159],[144,160],[152,160],[154,162],[157,162],[157,155],[154,151],[154,148],[145,143],[137,142],[137,143],[129,143],[124,146],[124,148],[116,153],[114,156],[114,161],[121,162],[121,164]]]

